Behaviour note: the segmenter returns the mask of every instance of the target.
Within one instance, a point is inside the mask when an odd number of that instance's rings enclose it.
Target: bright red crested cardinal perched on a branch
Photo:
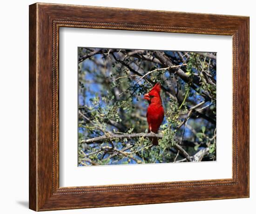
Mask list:
[[[162,99],[160,97],[161,85],[159,83],[144,95],[144,99],[148,100],[147,120],[148,133],[154,132],[157,134],[164,117],[164,110],[162,107]],[[152,140],[152,139],[150,139]],[[153,145],[158,145],[158,138],[153,138]]]

